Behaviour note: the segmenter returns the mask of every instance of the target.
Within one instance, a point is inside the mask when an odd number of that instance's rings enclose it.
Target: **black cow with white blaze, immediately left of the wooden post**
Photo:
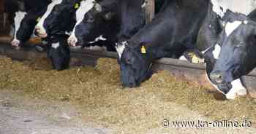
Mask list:
[[[106,40],[108,45],[105,46],[113,48],[113,44],[129,39],[145,24],[144,0],[86,2],[90,4],[78,9],[77,17],[80,14],[83,15],[83,19],[78,19],[68,39],[70,46],[89,47],[97,40]]]

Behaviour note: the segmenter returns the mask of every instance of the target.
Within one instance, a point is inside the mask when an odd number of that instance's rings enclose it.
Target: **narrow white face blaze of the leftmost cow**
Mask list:
[[[15,45],[20,44],[20,41],[17,39],[17,32],[18,32],[18,29],[20,28],[21,21],[23,20],[25,15],[26,15],[26,12],[21,12],[21,11],[15,12],[15,18],[14,18],[15,29],[13,29],[14,35],[13,35],[12,44],[15,44]]]

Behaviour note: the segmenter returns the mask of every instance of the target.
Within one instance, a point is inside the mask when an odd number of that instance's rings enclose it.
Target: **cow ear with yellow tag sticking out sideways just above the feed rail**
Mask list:
[[[190,63],[205,63],[203,53],[198,50],[187,50],[183,54],[183,58],[189,60]]]

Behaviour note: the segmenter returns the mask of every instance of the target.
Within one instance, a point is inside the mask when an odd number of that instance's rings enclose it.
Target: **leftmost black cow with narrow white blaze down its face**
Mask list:
[[[31,37],[37,20],[44,14],[50,1],[12,0],[9,2],[7,2],[6,9],[12,22],[11,35],[13,39],[11,44],[12,47],[19,48],[20,45],[27,42]],[[13,9],[13,7],[17,9]]]

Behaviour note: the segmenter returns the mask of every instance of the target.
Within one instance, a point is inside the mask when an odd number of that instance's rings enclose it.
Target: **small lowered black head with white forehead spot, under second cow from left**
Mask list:
[[[70,52],[66,35],[54,35],[50,38],[48,58],[53,63],[53,68],[61,71],[69,67]]]

